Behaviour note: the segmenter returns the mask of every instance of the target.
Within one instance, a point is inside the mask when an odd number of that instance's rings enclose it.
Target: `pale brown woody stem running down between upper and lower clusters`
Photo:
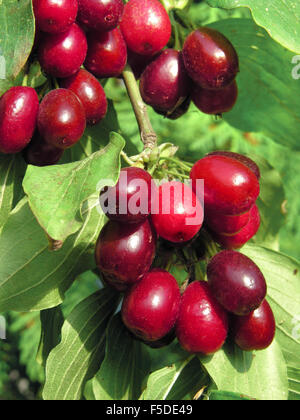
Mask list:
[[[141,97],[140,89],[133,71],[128,64],[123,71],[123,78],[136,116],[136,120],[139,125],[141,139],[144,143],[144,149],[153,149],[157,144],[157,135],[151,125],[147,106]]]

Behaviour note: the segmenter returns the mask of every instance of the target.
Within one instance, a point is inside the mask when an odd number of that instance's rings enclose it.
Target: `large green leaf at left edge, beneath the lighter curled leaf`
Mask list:
[[[59,305],[75,278],[94,267],[94,247],[104,219],[97,209],[88,209],[81,230],[53,252],[23,199],[0,236],[0,312]]]

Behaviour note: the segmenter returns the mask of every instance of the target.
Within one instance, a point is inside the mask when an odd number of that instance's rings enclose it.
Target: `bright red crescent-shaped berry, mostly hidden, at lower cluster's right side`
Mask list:
[[[260,214],[256,204],[249,212],[248,223],[234,235],[216,234],[213,235],[216,242],[226,249],[239,249],[245,245],[258,232],[260,227]]]

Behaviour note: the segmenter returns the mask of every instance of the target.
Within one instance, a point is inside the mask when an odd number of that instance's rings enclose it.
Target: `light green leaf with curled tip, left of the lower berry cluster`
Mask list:
[[[82,161],[42,168],[29,165],[23,187],[33,213],[50,238],[63,242],[82,227],[81,207],[97,194],[99,181],[117,182],[123,147],[123,138],[112,133],[104,149]]]

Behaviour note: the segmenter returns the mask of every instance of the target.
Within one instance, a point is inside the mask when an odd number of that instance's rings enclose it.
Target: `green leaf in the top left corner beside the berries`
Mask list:
[[[31,0],[0,2],[0,95],[14,86],[34,41]]]

